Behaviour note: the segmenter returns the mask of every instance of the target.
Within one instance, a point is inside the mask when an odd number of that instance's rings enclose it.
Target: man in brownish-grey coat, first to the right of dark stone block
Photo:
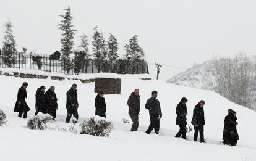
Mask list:
[[[129,115],[132,119],[132,128],[130,131],[137,131],[139,127],[139,114],[140,114],[140,95],[139,89],[135,89],[132,94],[130,94],[127,101],[129,107]]]

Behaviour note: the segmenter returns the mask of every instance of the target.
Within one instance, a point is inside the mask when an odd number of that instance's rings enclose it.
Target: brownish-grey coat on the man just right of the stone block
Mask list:
[[[127,101],[129,107],[129,114],[140,114],[140,96],[136,96],[134,92],[130,94]]]

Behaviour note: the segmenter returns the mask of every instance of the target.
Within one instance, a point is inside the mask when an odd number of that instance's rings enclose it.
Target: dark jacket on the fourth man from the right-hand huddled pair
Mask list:
[[[162,117],[160,102],[158,99],[151,97],[148,99],[145,108],[149,110],[149,114],[151,117]]]

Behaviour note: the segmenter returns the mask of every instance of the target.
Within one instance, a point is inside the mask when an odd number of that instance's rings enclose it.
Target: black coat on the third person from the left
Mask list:
[[[53,112],[58,108],[57,96],[54,91],[51,91],[51,89],[48,89],[48,91],[46,91],[45,96],[48,113],[53,114]]]

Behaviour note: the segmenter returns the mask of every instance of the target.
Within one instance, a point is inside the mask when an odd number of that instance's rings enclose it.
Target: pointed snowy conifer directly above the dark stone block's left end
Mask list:
[[[103,68],[103,61],[107,57],[107,52],[106,52],[106,44],[105,44],[105,39],[103,38],[103,34],[98,31],[98,27],[96,26],[94,28],[94,33],[93,33],[93,41],[92,41],[92,46],[93,46],[93,57],[95,59],[95,65],[100,73],[102,68]]]

